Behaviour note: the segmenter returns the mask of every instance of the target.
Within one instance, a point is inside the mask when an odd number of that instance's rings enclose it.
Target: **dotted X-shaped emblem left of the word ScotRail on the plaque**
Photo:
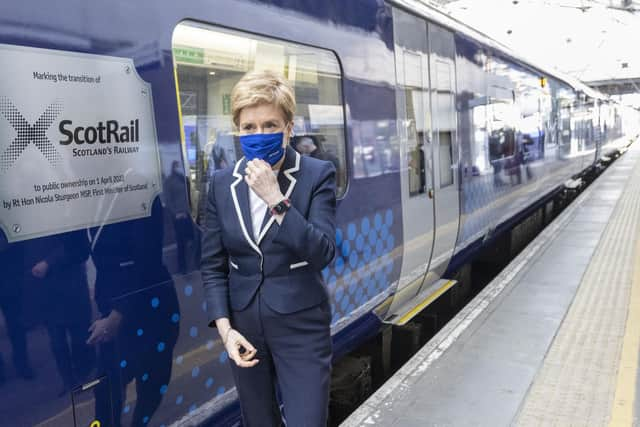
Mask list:
[[[11,144],[0,154],[0,171],[9,170],[29,144],[35,145],[49,163],[56,166],[62,160],[62,156],[47,138],[47,131],[62,113],[63,108],[62,103],[56,100],[44,110],[35,123],[31,124],[9,98],[0,96],[0,113],[18,133]]]

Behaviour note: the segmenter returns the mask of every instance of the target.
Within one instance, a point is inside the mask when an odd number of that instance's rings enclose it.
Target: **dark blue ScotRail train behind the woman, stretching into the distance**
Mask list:
[[[640,114],[418,0],[0,4],[0,424],[237,425],[207,327],[202,202],[231,88],[294,86],[333,162],[336,360],[407,322]]]

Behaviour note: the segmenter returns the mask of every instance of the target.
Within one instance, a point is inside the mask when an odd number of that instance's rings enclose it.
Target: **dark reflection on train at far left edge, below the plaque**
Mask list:
[[[70,425],[63,412],[69,392],[95,366],[95,349],[86,342],[92,316],[86,232],[0,246],[0,358],[11,354],[13,362],[0,363],[0,386],[11,390],[0,413],[12,425]],[[46,409],[29,410],[42,401]]]

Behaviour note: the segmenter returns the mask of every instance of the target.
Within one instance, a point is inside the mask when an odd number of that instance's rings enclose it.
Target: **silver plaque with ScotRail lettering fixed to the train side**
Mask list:
[[[151,87],[131,59],[0,44],[0,228],[9,242],[149,216]]]

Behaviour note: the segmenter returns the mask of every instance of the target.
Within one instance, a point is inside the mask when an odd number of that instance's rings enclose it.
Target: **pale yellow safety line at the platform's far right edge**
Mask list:
[[[611,408],[609,426],[633,425],[636,378],[638,377],[638,352],[640,351],[640,240],[636,244],[633,262],[633,279],[629,298],[629,313],[625,327],[622,353],[618,365],[616,394]],[[640,414],[639,414],[640,415]]]

